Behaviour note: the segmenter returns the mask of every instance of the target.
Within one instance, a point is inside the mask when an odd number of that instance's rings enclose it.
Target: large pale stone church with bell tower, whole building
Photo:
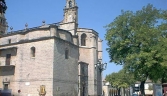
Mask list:
[[[101,96],[101,72],[95,64],[102,59],[102,40],[95,30],[78,27],[75,0],[66,0],[61,22],[43,21],[18,31],[6,31],[4,14],[0,13],[0,95]]]

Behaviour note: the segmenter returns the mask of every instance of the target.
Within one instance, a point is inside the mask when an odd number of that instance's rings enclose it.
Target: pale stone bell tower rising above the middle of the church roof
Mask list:
[[[60,23],[60,28],[70,31],[72,35],[76,35],[78,28],[78,7],[75,0],[66,0],[64,19]]]

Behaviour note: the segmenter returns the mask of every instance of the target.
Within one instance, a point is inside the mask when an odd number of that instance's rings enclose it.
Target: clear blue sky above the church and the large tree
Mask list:
[[[106,52],[106,34],[104,26],[109,24],[121,14],[121,10],[140,10],[147,4],[152,4],[158,9],[167,10],[167,0],[76,0],[79,7],[79,27],[94,29],[103,40],[103,62],[107,62],[106,74],[119,71],[122,67],[109,63]],[[45,20],[47,24],[63,20],[63,8],[66,0],[6,0],[8,9],[6,19],[13,30],[21,30],[28,27],[36,27]]]

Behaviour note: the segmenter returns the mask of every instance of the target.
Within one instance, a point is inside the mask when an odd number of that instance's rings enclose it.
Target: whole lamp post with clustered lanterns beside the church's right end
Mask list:
[[[95,69],[98,69],[100,72],[100,91],[101,91],[101,95],[102,95],[102,72],[107,68],[107,63],[103,63],[102,59],[99,59],[97,64],[95,64]]]

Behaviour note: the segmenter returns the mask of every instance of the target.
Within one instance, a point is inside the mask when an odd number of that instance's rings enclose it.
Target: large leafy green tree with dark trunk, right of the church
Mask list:
[[[148,4],[142,10],[122,11],[106,26],[110,61],[123,65],[141,81],[143,95],[147,78],[166,78],[167,11]]]

